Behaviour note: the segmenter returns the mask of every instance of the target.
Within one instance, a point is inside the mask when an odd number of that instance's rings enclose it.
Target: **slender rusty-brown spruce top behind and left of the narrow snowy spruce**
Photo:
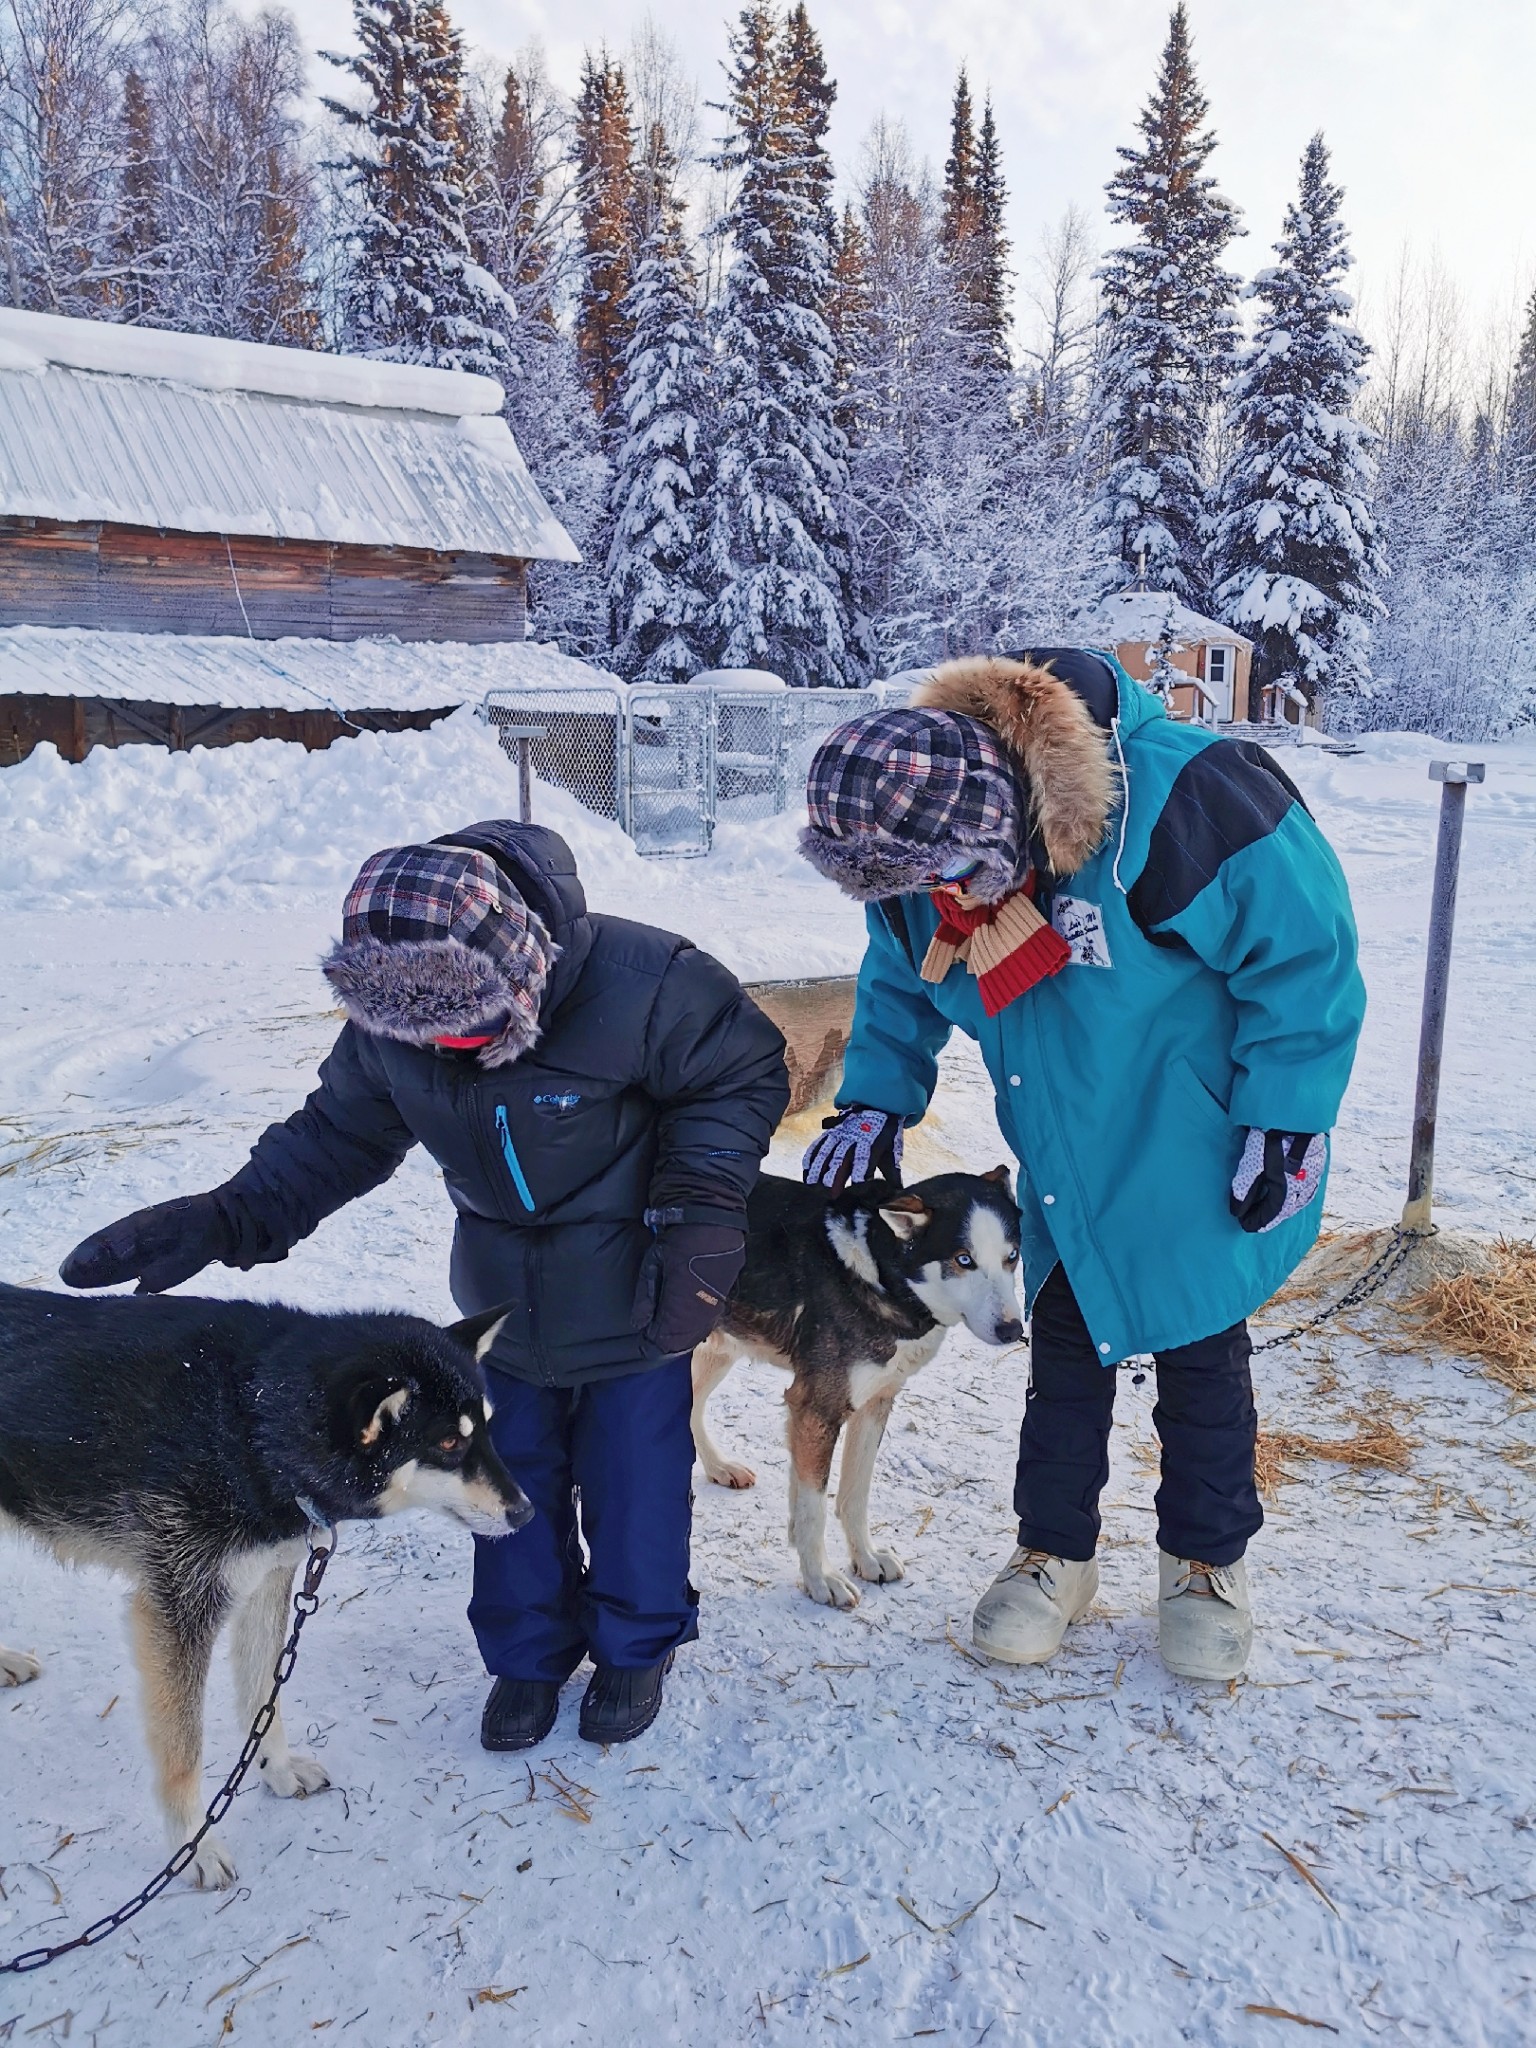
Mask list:
[[[582,193],[582,287],[575,348],[598,414],[618,395],[629,348],[629,287],[635,279],[635,129],[623,66],[590,51],[575,102],[575,168]]]

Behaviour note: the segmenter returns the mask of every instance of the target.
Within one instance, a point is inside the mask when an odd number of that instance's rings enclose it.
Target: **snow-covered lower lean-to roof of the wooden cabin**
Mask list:
[[[434,711],[487,690],[614,678],[535,641],[270,639],[2,627],[0,696],[113,696],[244,711]]]

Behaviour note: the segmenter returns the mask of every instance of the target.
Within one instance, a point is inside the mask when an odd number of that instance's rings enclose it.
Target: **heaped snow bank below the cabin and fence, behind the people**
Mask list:
[[[72,764],[43,745],[0,772],[0,893],[43,913],[332,915],[379,846],[516,809],[516,768],[471,709],[324,754],[256,739],[96,748]],[[569,840],[594,909],[684,932],[748,979],[858,963],[862,911],[799,858],[797,815],[721,825],[709,860],[645,860],[616,823],[543,782],[535,817]]]

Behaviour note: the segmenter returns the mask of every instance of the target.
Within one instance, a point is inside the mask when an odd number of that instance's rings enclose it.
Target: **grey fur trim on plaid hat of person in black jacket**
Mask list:
[[[522,983],[500,963],[461,938],[416,938],[385,944],[379,938],[338,940],[322,971],[358,1030],[401,1044],[467,1038],[485,1024],[502,1024],[479,1051],[483,1067],[508,1067],[539,1042],[539,995],[555,948],[537,918],[528,918],[535,948]]]

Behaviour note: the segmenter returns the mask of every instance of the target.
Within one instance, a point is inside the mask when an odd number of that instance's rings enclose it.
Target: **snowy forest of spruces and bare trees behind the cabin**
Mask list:
[[[1108,250],[1079,209],[1010,246],[1028,117],[965,72],[942,168],[891,123],[834,164],[805,4],[741,10],[702,92],[647,25],[571,98],[440,0],[354,0],[322,55],[315,96],[283,8],[6,0],[0,289],[496,377],[584,555],[539,639],[854,686],[1141,584],[1333,729],[1536,719],[1536,295],[1485,344],[1405,258],[1364,336],[1327,139],[1243,223],[1182,4]]]

